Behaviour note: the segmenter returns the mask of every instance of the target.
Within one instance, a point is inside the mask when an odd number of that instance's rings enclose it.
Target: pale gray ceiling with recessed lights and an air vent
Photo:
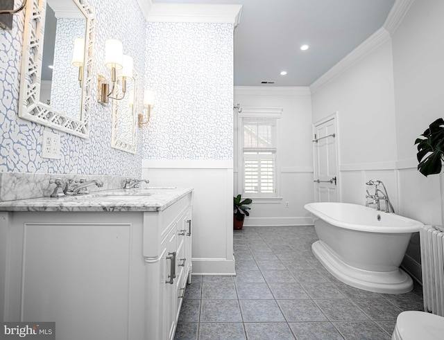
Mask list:
[[[309,86],[382,27],[395,0],[153,0],[240,4],[234,85]],[[307,51],[300,51],[309,44]],[[280,75],[287,71],[287,75]]]

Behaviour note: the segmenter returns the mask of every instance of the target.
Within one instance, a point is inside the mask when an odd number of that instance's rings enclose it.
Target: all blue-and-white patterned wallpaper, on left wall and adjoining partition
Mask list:
[[[19,2],[18,0],[15,1]],[[123,42],[143,89],[154,89],[151,121],[137,129],[137,153],[111,147],[112,105],[96,103],[85,140],[60,134],[61,159],[43,159],[42,125],[18,118],[23,12],[0,29],[0,172],[138,177],[144,159],[232,159],[232,24],[146,24],[137,0],[90,0],[96,16],[93,79],[105,68],[105,39]]]

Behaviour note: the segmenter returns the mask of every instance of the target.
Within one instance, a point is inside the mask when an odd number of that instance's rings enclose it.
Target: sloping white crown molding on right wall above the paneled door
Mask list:
[[[384,27],[379,28],[379,30],[373,33],[373,35],[370,35],[370,37],[368,37],[362,44],[357,46],[357,48],[343,57],[343,59],[334,65],[330,70],[315,80],[313,84],[310,85],[311,93],[316,93],[322,89],[325,84],[334,80],[334,78],[345,72],[362,58],[366,57],[366,55],[375,51],[376,48],[384,44],[384,42],[386,42],[388,39],[390,39],[390,34],[388,31]]]

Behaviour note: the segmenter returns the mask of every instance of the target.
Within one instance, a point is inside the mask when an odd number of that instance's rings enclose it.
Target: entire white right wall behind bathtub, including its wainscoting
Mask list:
[[[391,37],[321,87],[312,88],[313,121],[339,111],[343,202],[363,204],[365,181],[382,179],[395,210],[443,224],[443,175],[416,170],[415,139],[443,116],[444,2],[413,1]],[[418,234],[404,267],[420,279]]]

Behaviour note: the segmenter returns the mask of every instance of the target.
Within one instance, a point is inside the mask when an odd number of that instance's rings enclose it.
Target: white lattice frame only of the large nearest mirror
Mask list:
[[[46,0],[33,0],[26,6],[22,75],[20,79],[19,117],[68,134],[89,138],[89,113],[92,107],[92,55],[95,18],[86,0],[72,0],[86,18],[85,56],[80,119],[40,102],[42,54]]]

